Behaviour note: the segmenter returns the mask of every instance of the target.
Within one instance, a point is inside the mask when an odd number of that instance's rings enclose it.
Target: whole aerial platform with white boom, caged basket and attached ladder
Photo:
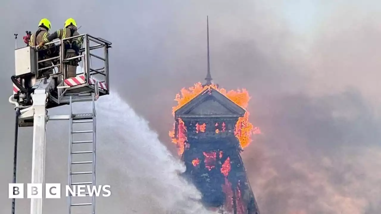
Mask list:
[[[28,34],[28,32],[27,32]],[[96,185],[96,111],[95,102],[99,96],[109,94],[109,57],[108,50],[111,43],[101,38],[95,38],[88,34],[78,35],[56,42],[47,43],[42,50],[32,47],[17,48],[15,50],[15,75],[12,76],[13,94],[9,102],[15,105],[15,146],[13,162],[13,183],[16,183],[17,166],[17,136],[18,128],[22,126],[33,126],[32,139],[32,184],[44,183],[45,160],[46,160],[46,126],[51,120],[66,120],[70,122],[69,134],[69,185]],[[66,52],[66,40],[78,39],[77,43],[83,41],[83,48],[77,52]],[[24,40],[25,41],[25,40]],[[26,42],[27,43],[27,42]],[[91,45],[95,43],[95,45]],[[28,44],[28,43],[27,43]],[[72,45],[73,43],[70,44]],[[74,43],[75,44],[75,43]],[[73,46],[71,46],[73,47]],[[74,46],[75,47],[75,46]],[[98,53],[97,53],[98,50]],[[67,54],[70,53],[70,54]],[[101,54],[99,54],[101,53]],[[40,55],[40,57],[39,57]],[[42,57],[43,56],[43,57]],[[99,59],[92,62],[91,59]],[[75,77],[67,77],[67,66],[78,68],[77,61],[82,68]],[[74,63],[75,62],[75,63]],[[93,64],[94,65],[93,67]],[[96,69],[95,66],[101,68]],[[73,69],[73,67],[71,67]],[[48,71],[48,73],[44,72]],[[74,76],[74,75],[73,75]],[[72,102],[92,101],[93,111],[91,113],[73,113]],[[69,104],[70,115],[48,115],[47,109],[59,105]],[[78,130],[74,128],[76,123],[91,123],[91,130]],[[83,134],[91,133],[87,140],[83,140]],[[79,135],[79,136],[78,136]],[[77,136],[74,138],[74,136]],[[88,150],[74,145],[89,145]],[[78,160],[86,154],[92,154],[86,161]],[[74,157],[74,158],[73,158]],[[77,160],[76,160],[77,159]],[[74,166],[81,166],[82,170]],[[87,168],[87,170],[83,169]],[[78,171],[77,171],[78,170]],[[89,170],[89,171],[88,171]],[[77,177],[77,176],[80,177]],[[91,175],[86,181],[83,175]],[[72,214],[76,208],[90,208],[86,213],[95,214],[95,197],[90,190],[84,193],[88,200],[77,201],[69,196],[68,211]],[[79,194],[77,194],[79,196]],[[84,211],[83,209],[81,209]],[[78,210],[78,211],[81,211]],[[15,200],[12,201],[12,213],[15,211]],[[30,199],[30,213],[43,214],[42,198]],[[77,213],[77,212],[75,212]],[[82,212],[83,213],[83,212]]]

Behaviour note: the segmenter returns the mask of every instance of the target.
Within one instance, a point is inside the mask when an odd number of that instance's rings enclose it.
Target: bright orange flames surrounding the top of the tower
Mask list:
[[[199,95],[202,91],[204,91],[207,88],[214,88],[217,91],[219,91],[221,94],[225,95],[227,98],[229,98],[231,101],[233,101],[235,104],[239,105],[243,109],[246,109],[248,106],[248,102],[250,100],[249,93],[246,89],[237,89],[237,91],[231,90],[226,91],[226,89],[218,88],[217,85],[209,85],[209,86],[202,86],[202,83],[196,83],[194,86],[186,89],[182,88],[180,93],[176,94],[175,101],[177,101],[177,105],[172,108],[172,114],[174,115],[174,112],[178,109],[180,109],[182,106],[187,104],[187,102],[191,101],[193,98],[195,98],[197,95]],[[237,124],[235,126],[235,136],[239,139],[240,145],[242,148],[247,147],[250,142],[252,141],[251,136],[253,134],[259,134],[261,133],[258,127],[254,127],[253,124],[249,121],[249,112],[246,112],[243,117],[240,117],[237,121]],[[183,123],[184,124],[184,123]],[[179,126],[180,129],[180,126]],[[201,129],[200,129],[201,130]],[[225,131],[225,124],[223,124],[223,130]],[[216,133],[218,133],[216,131]],[[174,131],[170,132],[170,137],[172,137],[172,142],[175,144],[183,144],[182,140],[180,141],[175,139]],[[184,152],[184,145],[178,145],[178,148],[182,148],[182,150],[179,150],[179,154],[181,155],[182,152]]]

